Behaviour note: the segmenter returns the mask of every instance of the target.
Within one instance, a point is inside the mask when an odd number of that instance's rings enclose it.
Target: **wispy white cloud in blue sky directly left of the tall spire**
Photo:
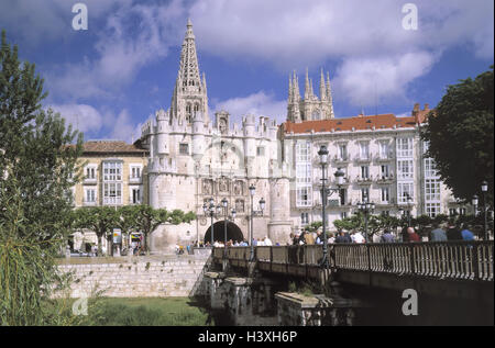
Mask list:
[[[177,22],[184,21],[177,18],[183,16],[182,0],[162,5],[123,3],[108,13],[92,58],[45,74],[50,90],[73,100],[119,96],[118,91],[131,83],[142,67],[164,58],[168,48],[179,43],[184,25]]]

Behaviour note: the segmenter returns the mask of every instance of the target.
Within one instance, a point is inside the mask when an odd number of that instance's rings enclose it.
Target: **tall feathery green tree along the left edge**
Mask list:
[[[82,135],[52,110],[34,64],[18,47],[0,47],[0,324],[61,323],[48,311],[65,281],[55,258],[70,233],[70,188],[78,180]],[[74,144],[75,143],[75,144]],[[73,144],[73,145],[72,145]],[[70,146],[69,146],[70,145]]]

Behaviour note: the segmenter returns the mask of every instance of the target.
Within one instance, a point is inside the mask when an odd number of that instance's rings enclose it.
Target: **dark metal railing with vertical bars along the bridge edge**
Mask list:
[[[391,244],[331,244],[329,262],[337,270],[395,273],[436,279],[493,281],[493,240]],[[261,263],[319,266],[321,245],[260,246],[254,258]],[[213,257],[223,258],[223,248]],[[250,247],[230,247],[227,258],[249,261]]]

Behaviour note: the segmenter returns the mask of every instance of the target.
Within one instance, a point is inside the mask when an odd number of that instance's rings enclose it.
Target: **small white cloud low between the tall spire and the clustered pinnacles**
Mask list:
[[[215,104],[215,109],[228,111],[235,122],[240,122],[242,116],[246,114],[268,116],[278,122],[283,122],[287,115],[287,102],[285,100],[275,100],[273,94],[264,91],[258,91],[248,97],[219,101]]]

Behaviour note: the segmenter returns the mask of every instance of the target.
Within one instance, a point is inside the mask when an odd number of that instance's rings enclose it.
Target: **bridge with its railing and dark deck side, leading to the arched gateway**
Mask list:
[[[331,279],[375,289],[415,289],[429,295],[482,299],[493,305],[493,240],[213,248],[213,263],[266,278]],[[330,277],[327,277],[330,274]]]

